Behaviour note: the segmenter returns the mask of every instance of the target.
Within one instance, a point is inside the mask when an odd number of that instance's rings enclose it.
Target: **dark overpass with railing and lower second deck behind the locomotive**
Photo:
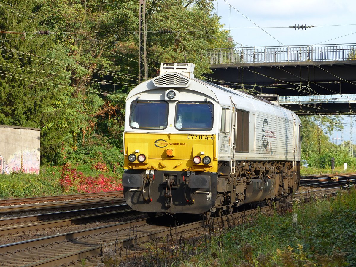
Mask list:
[[[356,44],[208,49],[207,57],[213,83],[278,94],[299,115],[356,113]]]

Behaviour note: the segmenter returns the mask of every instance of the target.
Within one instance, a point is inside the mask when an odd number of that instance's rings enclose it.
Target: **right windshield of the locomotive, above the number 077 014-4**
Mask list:
[[[179,102],[176,108],[176,129],[206,131],[213,128],[214,105],[208,102]]]

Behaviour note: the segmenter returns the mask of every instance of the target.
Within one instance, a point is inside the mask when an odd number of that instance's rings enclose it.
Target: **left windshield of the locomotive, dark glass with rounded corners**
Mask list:
[[[166,101],[133,101],[130,111],[130,126],[133,129],[165,129],[168,119]]]

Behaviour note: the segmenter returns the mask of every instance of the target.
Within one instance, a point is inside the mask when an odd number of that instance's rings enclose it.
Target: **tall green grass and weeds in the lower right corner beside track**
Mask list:
[[[330,199],[295,200],[293,212],[285,211],[209,224],[195,239],[168,237],[128,266],[356,266],[355,187]]]

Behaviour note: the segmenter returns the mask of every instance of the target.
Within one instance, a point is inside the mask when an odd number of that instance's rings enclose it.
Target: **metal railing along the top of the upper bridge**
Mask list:
[[[210,64],[356,60],[356,44],[207,49]]]

